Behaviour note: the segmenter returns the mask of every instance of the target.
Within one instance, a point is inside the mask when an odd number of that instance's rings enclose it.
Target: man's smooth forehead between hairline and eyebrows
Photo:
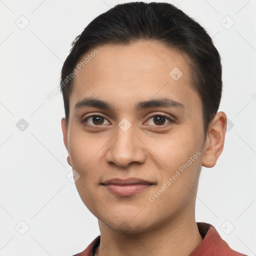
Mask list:
[[[84,97],[100,98],[116,108],[127,107],[128,99],[134,105],[166,95],[186,108],[200,101],[191,89],[189,58],[177,50],[150,41],[103,45],[97,50],[90,55],[91,49],[78,61],[87,57],[73,78],[70,112]]]

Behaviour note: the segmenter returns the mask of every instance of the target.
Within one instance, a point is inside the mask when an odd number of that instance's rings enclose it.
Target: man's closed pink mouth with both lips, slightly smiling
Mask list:
[[[112,194],[115,195],[133,195],[146,188],[154,185],[154,183],[150,181],[146,181],[143,179],[137,178],[113,178],[108,179],[101,183],[104,187]]]

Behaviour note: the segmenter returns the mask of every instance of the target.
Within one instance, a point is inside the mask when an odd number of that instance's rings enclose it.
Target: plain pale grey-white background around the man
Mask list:
[[[46,95],[58,86],[75,36],[122,2],[0,0],[0,255],[70,256],[99,234],[66,176],[61,94]],[[256,0],[167,2],[204,26],[222,57],[219,111],[229,127],[217,164],[202,168],[196,221],[214,225],[234,250],[256,255]]]

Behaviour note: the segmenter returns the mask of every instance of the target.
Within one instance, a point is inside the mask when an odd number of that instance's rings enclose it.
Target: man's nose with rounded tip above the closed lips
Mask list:
[[[143,163],[145,161],[146,146],[134,133],[132,125],[126,131],[117,127],[109,143],[106,153],[107,163],[126,167],[131,162]]]

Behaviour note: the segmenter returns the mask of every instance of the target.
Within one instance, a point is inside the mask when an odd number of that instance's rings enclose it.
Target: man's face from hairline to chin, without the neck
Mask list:
[[[193,218],[204,136],[188,58],[149,41],[97,49],[73,78],[67,129],[62,119],[83,203],[119,232]],[[140,183],[108,181],[129,178]]]

